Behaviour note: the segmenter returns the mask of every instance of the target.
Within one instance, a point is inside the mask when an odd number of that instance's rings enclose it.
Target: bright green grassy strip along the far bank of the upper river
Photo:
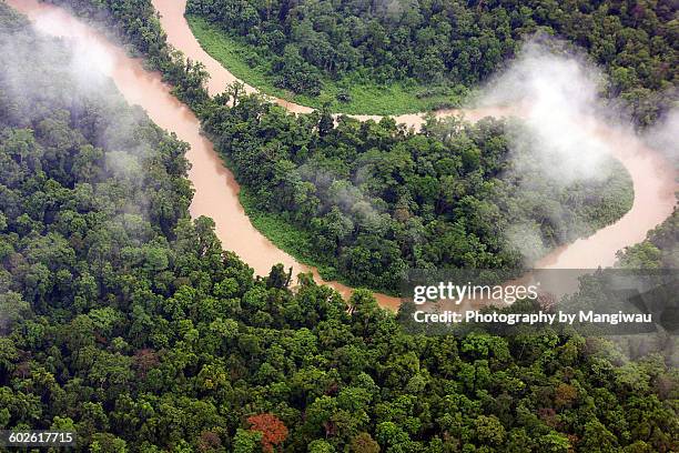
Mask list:
[[[403,114],[457,107],[466,95],[465,89],[450,87],[405,85],[388,87],[366,83],[365,79],[347,77],[335,81],[325,78],[320,95],[295,94],[274,85],[271,61],[263,59],[256,50],[224,33],[205,19],[188,14],[186,20],[201,47],[231,73],[260,91],[285,100],[321,108],[331,102],[333,110],[349,114]],[[351,100],[341,102],[337,94],[348,93]]]

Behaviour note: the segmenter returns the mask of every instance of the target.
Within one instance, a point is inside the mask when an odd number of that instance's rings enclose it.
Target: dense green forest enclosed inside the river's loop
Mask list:
[[[599,180],[572,183],[546,177],[539,147],[509,159],[520,123],[430,119],[414,133],[342,117],[334,127],[327,111],[294,115],[237,88],[215,99],[203,127],[245,205],[281,220],[272,226],[293,231],[293,251],[352,285],[395,291],[408,268],[519,268],[521,252],[538,258],[632,203],[612,159]],[[518,162],[526,175],[513,171]],[[508,240],[516,225],[520,244]]]

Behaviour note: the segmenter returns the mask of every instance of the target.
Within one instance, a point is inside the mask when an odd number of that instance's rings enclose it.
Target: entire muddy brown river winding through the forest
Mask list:
[[[186,154],[192,165],[189,178],[195,189],[191,214],[212,218],[225,249],[234,251],[257,274],[265,275],[272,264],[283,263],[286,269],[292,266],[295,274],[311,271],[317,281],[323,282],[315,269],[298,263],[277,249],[252,225],[239,202],[240,188],[233,174],[224,167],[212,143],[201,135],[196,117],[171,94],[171,87],[162,81],[160,73],[146,71],[141,59],[129,57],[121,46],[59,7],[39,3],[38,0],[6,1],[27,14],[39,30],[72,39],[78,46],[87,46],[104,56],[109,64],[101,70],[113,79],[125,100],[141,105],[156,124],[176,133],[179,139],[191,145]],[[153,0],[153,4],[161,14],[169,42],[192,60],[202,62],[210,72],[207,89],[211,94],[223,91],[226,84],[237,80],[200,47],[183,16],[184,0]],[[256,91],[250,85],[245,85],[245,89],[249,92]],[[282,99],[273,100],[291,112],[305,113],[312,110]],[[524,115],[525,110],[526,107],[445,110],[437,112],[437,115],[463,114],[467,120],[476,121],[487,115]],[[355,118],[365,120],[379,117]],[[396,121],[417,129],[424,118],[422,114],[406,114],[396,117]],[[611,153],[628,170],[635,190],[634,205],[616,223],[555,250],[541,259],[536,268],[591,269],[611,265],[618,250],[643,240],[648,230],[661,223],[675,207],[675,191],[678,188],[676,171],[660,152],[646,147],[632,133],[594,118],[584,119],[582,127],[605,141]],[[352,291],[337,282],[324,283],[331,284],[345,296]],[[376,298],[381,305],[392,309],[399,303],[399,299],[385,294],[376,294]]]

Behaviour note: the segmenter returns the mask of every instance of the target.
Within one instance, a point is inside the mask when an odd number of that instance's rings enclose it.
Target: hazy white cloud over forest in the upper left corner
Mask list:
[[[74,142],[103,150],[105,182],[130,191],[120,214],[148,219],[144,161],[158,152],[158,135],[146,114],[130,108],[111,80],[114,54],[89,33],[60,10],[34,14],[30,28],[0,33],[0,89],[12,107],[8,122],[34,129],[45,118],[68,122],[84,137],[73,135]]]

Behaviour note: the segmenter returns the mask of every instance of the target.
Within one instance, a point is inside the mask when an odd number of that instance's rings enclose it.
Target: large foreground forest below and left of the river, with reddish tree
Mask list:
[[[185,144],[3,4],[0,29],[0,427],[91,452],[679,446],[660,354],[409,335],[365,291],[346,311],[281,266],[253,278],[190,219]]]

